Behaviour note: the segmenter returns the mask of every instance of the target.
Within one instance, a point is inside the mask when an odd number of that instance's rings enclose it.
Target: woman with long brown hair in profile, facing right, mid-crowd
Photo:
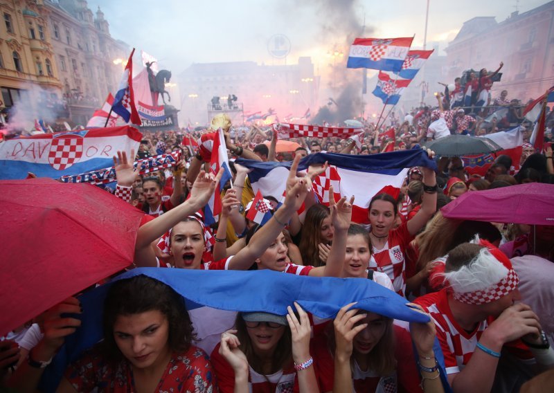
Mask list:
[[[316,267],[325,265],[333,235],[329,208],[319,203],[312,205],[306,212],[298,244],[303,264]]]

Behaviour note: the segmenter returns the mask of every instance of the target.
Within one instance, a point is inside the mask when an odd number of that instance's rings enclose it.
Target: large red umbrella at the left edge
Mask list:
[[[143,212],[89,184],[0,181],[0,336],[132,263]]]

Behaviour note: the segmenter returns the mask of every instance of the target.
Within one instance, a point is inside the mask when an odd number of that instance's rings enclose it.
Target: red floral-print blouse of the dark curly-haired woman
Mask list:
[[[136,392],[132,367],[127,360],[107,363],[100,355],[98,345],[69,365],[64,377],[78,392]],[[208,355],[198,347],[173,354],[155,392],[217,392],[213,369]]]

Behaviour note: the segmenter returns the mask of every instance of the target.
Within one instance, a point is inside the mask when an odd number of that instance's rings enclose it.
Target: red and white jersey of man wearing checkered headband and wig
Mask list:
[[[452,316],[446,289],[428,293],[414,302],[427,309],[434,319],[438,342],[445,356],[447,374],[461,372],[470,361],[481,334],[488,327],[488,322],[483,320],[474,331],[465,331]]]

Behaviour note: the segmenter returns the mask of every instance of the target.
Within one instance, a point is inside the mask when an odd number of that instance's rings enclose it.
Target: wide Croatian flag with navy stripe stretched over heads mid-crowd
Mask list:
[[[437,168],[436,163],[422,149],[411,149],[371,156],[317,153],[303,158],[298,170],[305,170],[310,165],[321,165],[325,161],[336,170],[333,176],[330,172],[329,179],[332,177],[333,181],[340,181],[341,197],[355,197],[352,221],[357,223],[369,222],[368,207],[371,198],[386,185],[400,188],[410,167]],[[260,190],[262,195],[280,199],[286,189],[290,162],[262,163],[244,158],[239,158],[236,162],[252,169],[248,176],[255,192]],[[334,192],[339,190],[335,189]]]

